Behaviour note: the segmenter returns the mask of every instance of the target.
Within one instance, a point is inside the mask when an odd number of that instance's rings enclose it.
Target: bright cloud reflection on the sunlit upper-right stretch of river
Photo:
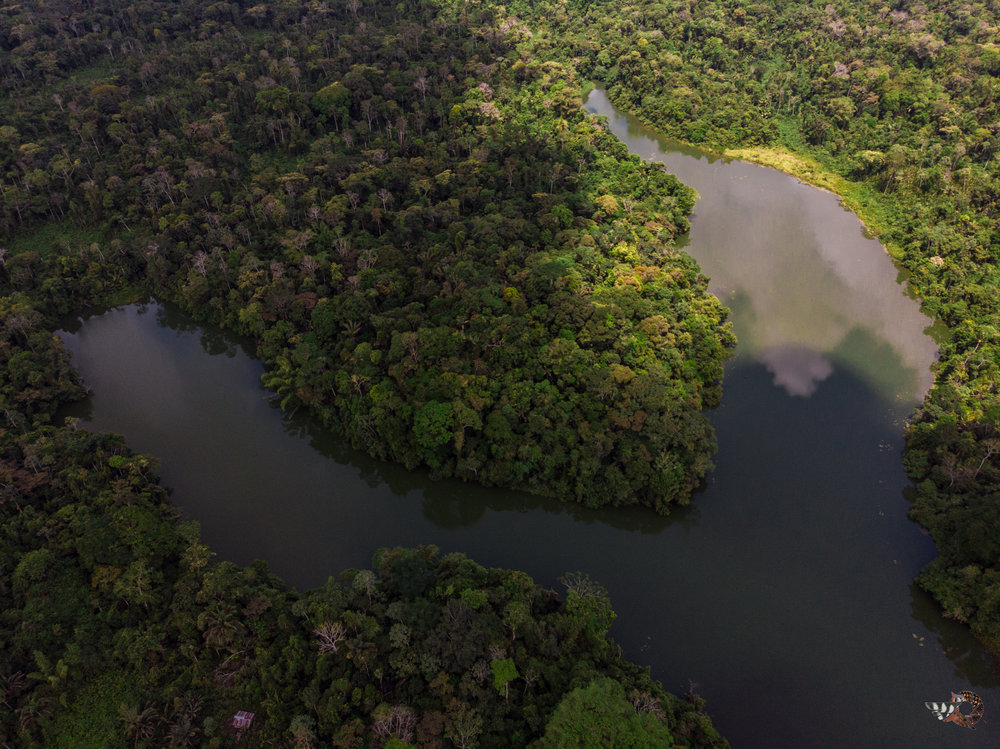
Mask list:
[[[617,115],[600,90],[587,107],[607,116],[633,153],[698,191],[685,249],[733,310],[739,357],[765,364],[793,396],[813,395],[840,366],[892,401],[916,403],[926,393],[937,355],[925,332],[931,320],[837,196],[773,169],[677,148]]]

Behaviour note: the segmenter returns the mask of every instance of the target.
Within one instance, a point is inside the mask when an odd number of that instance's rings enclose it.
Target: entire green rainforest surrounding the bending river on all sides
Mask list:
[[[580,108],[834,189],[947,327],[908,430],[921,583],[1000,651],[997,8],[957,2],[0,8],[0,740],[722,746],[566,598],[437,550],[298,593],[211,559],[155,459],[57,423],[51,335],[153,295],[376,457],[686,504],[734,339],[693,191]],[[335,572],[335,571],[331,571]]]

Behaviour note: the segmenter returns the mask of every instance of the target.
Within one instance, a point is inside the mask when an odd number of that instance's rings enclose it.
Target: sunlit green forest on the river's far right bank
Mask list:
[[[536,54],[574,58],[659,130],[771,144],[845,195],[947,328],[909,427],[921,584],[1000,652],[1000,9],[995,3],[515,3]]]

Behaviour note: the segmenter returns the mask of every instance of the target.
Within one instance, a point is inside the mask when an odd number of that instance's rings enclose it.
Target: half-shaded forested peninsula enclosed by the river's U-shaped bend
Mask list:
[[[285,408],[377,457],[592,507],[688,501],[732,344],[673,248],[694,194],[581,111],[570,67],[522,58],[526,29],[434,2],[187,3],[184,24],[97,5],[113,72],[66,50],[44,86],[6,80],[11,252],[54,232],[58,256],[15,289],[79,251],[105,293],[253,336]],[[76,222],[94,236],[59,233]]]

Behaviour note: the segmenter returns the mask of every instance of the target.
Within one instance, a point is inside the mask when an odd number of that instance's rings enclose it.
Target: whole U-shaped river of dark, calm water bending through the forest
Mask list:
[[[740,338],[691,508],[592,512],[371,460],[283,416],[237,340],[152,303],[61,333],[94,389],[75,415],[157,456],[220,558],[299,588],[427,543],[551,587],[588,572],[626,655],[694,683],[734,747],[997,746],[990,659],[912,583],[934,548],[906,518],[900,450],[931,321],[835,196],[659,140],[599,91],[588,107],[701,194],[688,251]],[[965,689],[986,705],[975,731],[924,707]]]

